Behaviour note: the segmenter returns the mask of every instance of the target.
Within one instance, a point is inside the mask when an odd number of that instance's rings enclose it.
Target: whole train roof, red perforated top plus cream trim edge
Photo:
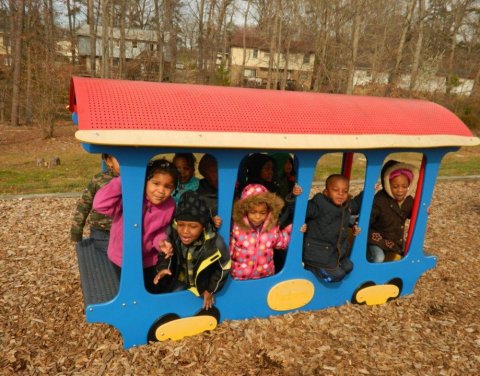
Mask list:
[[[92,144],[260,149],[477,145],[432,102],[73,77],[77,139]]]

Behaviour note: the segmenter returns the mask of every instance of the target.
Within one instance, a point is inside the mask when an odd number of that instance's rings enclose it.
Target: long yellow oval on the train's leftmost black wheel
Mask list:
[[[184,337],[194,336],[217,327],[217,319],[213,316],[192,316],[169,321],[155,330],[159,341],[171,339],[176,341]]]

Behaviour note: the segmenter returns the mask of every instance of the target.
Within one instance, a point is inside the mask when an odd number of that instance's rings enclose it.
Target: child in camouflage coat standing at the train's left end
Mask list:
[[[100,188],[109,183],[113,177],[119,175],[120,167],[113,155],[104,153],[102,154],[102,160],[107,169],[96,174],[83,191],[73,217],[70,238],[74,242],[82,240],[83,228],[87,218],[90,217],[90,238],[93,239],[93,245],[97,251],[106,253],[112,218],[92,210],[93,198]]]

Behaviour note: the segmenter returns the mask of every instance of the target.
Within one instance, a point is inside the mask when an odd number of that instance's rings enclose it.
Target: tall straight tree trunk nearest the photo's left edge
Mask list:
[[[22,29],[23,29],[23,0],[17,2],[17,15],[15,18],[15,39],[13,49],[13,75],[12,75],[12,113],[10,124],[13,127],[19,125],[20,108],[20,71],[22,62]]]

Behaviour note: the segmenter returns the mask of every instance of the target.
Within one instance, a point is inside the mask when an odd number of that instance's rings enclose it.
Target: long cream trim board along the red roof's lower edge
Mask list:
[[[239,149],[379,149],[480,145],[477,137],[450,135],[339,135],[167,130],[79,130],[75,137],[88,144],[119,146],[209,147]]]

